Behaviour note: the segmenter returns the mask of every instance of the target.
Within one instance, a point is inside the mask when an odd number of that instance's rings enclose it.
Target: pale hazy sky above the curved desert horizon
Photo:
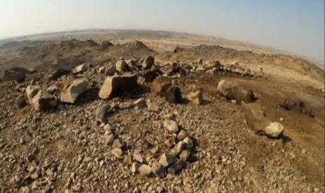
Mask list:
[[[210,34],[324,62],[324,0],[0,0],[0,37],[89,28]]]

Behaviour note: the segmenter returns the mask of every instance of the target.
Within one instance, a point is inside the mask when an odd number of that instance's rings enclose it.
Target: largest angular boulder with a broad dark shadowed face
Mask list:
[[[138,76],[136,75],[109,76],[101,86],[99,98],[112,99],[123,92],[134,90],[136,87],[138,87]]]

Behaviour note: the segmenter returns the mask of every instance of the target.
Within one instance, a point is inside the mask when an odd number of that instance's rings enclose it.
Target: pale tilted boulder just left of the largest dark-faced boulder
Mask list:
[[[64,87],[60,95],[60,101],[66,103],[75,103],[78,97],[87,91],[88,86],[88,80],[85,78],[74,80],[71,85],[66,85]]]

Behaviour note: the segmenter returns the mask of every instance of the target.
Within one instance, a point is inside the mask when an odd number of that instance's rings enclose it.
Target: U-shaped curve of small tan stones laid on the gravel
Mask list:
[[[146,162],[139,153],[125,154],[123,150],[124,144],[119,138],[115,138],[111,125],[105,124],[104,129],[105,143],[112,145],[112,154],[117,159],[123,159],[125,164],[131,165],[132,173],[140,173],[143,176],[152,176],[154,174],[154,176],[164,178],[167,173],[172,175],[179,173],[186,165],[186,162],[189,161],[189,157],[195,149],[193,139],[188,136],[184,129],[178,127],[177,122],[171,119],[164,120],[164,129],[176,136],[165,141],[172,148],[169,152],[160,155],[159,159],[150,162]],[[173,145],[174,143],[175,145]]]

